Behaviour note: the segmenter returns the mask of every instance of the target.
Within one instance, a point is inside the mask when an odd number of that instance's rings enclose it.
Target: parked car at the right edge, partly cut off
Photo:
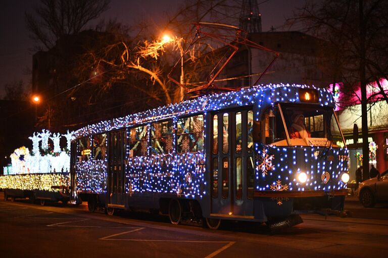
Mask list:
[[[367,208],[376,203],[388,203],[388,170],[360,183],[358,197],[361,204]]]

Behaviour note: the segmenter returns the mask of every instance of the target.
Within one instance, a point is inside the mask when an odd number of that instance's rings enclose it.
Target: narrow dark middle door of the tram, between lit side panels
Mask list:
[[[111,132],[109,136],[109,203],[123,205],[125,202],[125,131]]]

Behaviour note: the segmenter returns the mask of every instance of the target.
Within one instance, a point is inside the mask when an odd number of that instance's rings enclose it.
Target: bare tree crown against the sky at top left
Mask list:
[[[25,20],[31,38],[50,49],[62,36],[85,29],[108,5],[109,0],[41,0],[33,14],[25,14]]]

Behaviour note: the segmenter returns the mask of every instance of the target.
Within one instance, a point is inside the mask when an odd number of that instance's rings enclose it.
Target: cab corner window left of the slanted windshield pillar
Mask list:
[[[264,142],[266,144],[273,144],[284,141],[284,145],[286,145],[286,134],[278,108],[276,106],[268,108],[264,112],[262,120]]]

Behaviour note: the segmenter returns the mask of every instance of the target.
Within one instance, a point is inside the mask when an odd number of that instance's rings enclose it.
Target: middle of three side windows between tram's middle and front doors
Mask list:
[[[165,154],[173,151],[172,120],[151,125],[151,153]]]

